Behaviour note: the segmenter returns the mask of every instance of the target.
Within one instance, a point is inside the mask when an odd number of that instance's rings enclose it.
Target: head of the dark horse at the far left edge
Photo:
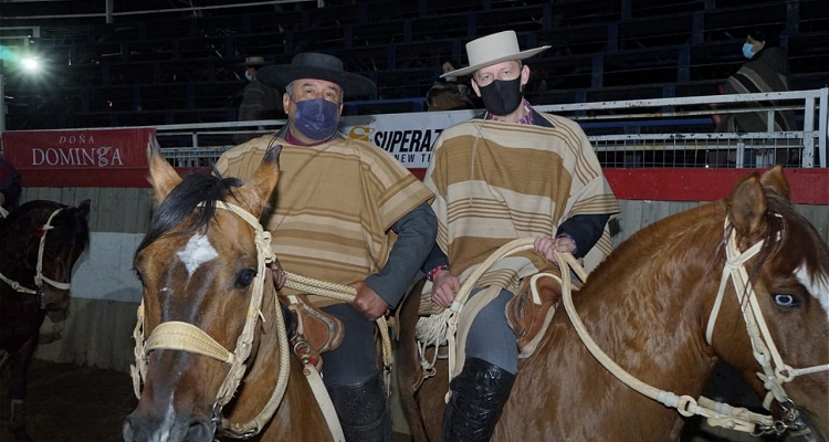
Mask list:
[[[42,309],[65,309],[72,270],[90,243],[90,200],[76,208],[53,201],[30,201],[0,225],[3,282],[12,290],[38,296]]]

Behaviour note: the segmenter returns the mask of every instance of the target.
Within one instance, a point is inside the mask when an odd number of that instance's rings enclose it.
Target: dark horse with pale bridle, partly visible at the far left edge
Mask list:
[[[14,441],[30,440],[23,403],[27,373],[48,311],[69,306],[72,269],[90,242],[90,200],[77,208],[30,201],[0,220],[0,349],[11,368]],[[4,438],[0,438],[6,440]]]

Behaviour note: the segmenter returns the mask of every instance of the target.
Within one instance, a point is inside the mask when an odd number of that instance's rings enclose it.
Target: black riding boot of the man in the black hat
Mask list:
[[[382,372],[351,386],[332,386],[328,394],[337,410],[346,442],[390,442],[391,414]]]

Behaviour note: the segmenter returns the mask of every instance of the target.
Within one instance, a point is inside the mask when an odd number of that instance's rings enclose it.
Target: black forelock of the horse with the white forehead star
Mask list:
[[[237,178],[222,178],[204,171],[186,175],[181,183],[176,186],[165,198],[158,210],[153,214],[147,234],[138,245],[137,251],[167,234],[181,224],[188,217],[197,212],[188,229],[180,234],[207,229],[210,220],[216,215],[216,202],[224,201],[228,196],[233,197],[233,188],[241,187],[242,181]],[[200,210],[197,210],[200,207]]]

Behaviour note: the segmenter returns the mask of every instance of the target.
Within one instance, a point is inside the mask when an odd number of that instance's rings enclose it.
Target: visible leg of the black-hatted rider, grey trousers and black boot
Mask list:
[[[323,381],[337,410],[346,442],[391,441],[386,386],[377,368],[377,326],[350,304],[323,309],[345,326],[343,344],[323,355]]]

